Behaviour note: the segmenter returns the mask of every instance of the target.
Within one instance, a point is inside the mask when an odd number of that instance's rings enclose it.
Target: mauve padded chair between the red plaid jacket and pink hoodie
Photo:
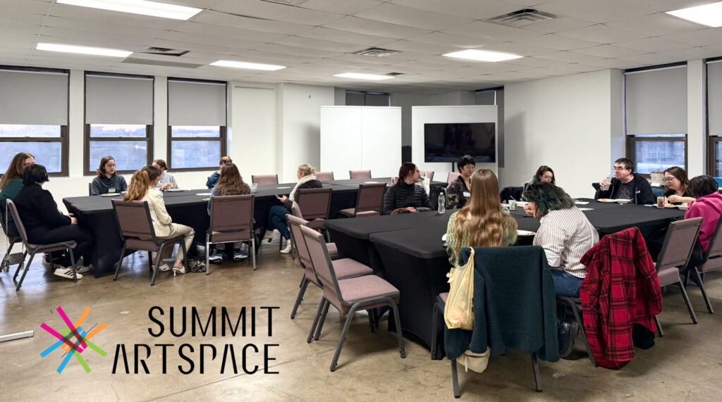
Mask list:
[[[690,262],[692,249],[695,247],[695,241],[697,241],[697,235],[700,233],[701,225],[702,218],[677,220],[677,222],[669,223],[667,234],[664,236],[664,244],[662,244],[662,249],[659,251],[659,256],[655,263],[657,276],[659,277],[659,285],[679,286],[679,290],[682,291],[684,303],[687,304],[687,311],[690,312],[692,323],[695,324],[697,323],[697,316],[695,316],[695,311],[692,310],[690,298],[687,297],[687,291],[684,290],[684,284],[679,277],[679,267],[686,267],[687,263]],[[654,317],[654,320],[657,323],[659,336],[664,336],[658,318]]]

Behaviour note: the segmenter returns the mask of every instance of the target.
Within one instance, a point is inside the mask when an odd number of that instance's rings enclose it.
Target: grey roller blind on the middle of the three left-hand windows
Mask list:
[[[153,79],[86,74],[85,122],[153,124]]]

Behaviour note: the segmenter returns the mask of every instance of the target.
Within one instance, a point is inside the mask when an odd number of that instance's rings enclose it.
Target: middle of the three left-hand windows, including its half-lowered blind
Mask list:
[[[150,164],[152,132],[152,77],[85,74],[84,174],[95,174],[108,155],[118,173]]]

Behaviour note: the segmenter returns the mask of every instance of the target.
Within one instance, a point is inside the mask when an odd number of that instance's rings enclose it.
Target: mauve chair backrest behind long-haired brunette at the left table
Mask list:
[[[253,204],[256,196],[223,195],[211,198],[209,231],[253,231]]]

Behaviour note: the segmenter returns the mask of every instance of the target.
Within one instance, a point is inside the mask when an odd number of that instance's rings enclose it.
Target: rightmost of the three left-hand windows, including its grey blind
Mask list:
[[[168,169],[218,169],[226,154],[225,82],[168,79]]]

